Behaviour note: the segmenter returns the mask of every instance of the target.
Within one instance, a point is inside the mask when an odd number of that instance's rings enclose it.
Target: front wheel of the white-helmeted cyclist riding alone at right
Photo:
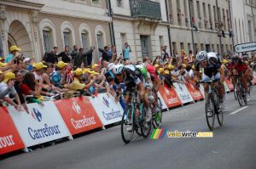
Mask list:
[[[207,94],[206,117],[207,117],[207,125],[212,130],[214,127],[214,121],[215,121],[215,104],[214,104],[212,93]]]

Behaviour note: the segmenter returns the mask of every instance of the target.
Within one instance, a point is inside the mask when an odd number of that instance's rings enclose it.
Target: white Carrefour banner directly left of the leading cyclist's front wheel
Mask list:
[[[101,93],[98,97],[89,99],[104,126],[122,120],[124,110],[121,104],[115,103],[112,95],[108,98],[107,93]]]

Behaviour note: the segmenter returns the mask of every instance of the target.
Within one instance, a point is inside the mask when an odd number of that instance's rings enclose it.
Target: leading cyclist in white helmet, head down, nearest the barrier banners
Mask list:
[[[136,68],[134,65],[116,65],[113,69],[114,75],[118,78],[119,82],[125,82],[125,92],[131,92],[137,87],[138,93],[143,99],[143,103],[147,108],[147,117],[146,121],[150,121],[152,114],[149,107],[148,98],[145,97],[145,86],[143,85],[144,78],[141,70]],[[120,93],[119,93],[120,94]],[[126,106],[130,103],[131,96],[130,94],[125,95]],[[127,131],[132,131],[132,125],[127,128]]]

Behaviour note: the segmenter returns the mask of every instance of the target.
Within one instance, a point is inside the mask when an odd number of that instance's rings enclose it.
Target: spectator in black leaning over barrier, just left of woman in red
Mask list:
[[[26,110],[26,113],[29,114],[28,109],[27,109],[27,106],[26,106],[25,99],[24,99],[24,97],[23,97],[23,94],[22,94],[21,91],[20,91],[20,82],[22,82],[22,75],[21,75],[21,73],[20,73],[20,70],[15,70],[15,71],[14,71],[14,74],[15,74],[15,76],[16,76],[15,90],[16,90],[16,92],[17,92],[18,95],[19,95],[20,104],[23,105],[24,109]],[[18,103],[15,101],[15,104],[18,104]]]

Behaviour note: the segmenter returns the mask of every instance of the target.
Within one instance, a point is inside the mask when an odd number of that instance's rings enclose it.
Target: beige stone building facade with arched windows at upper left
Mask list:
[[[3,57],[10,46],[22,49],[25,57],[40,61],[50,48],[59,53],[73,45],[103,48],[110,42],[110,18],[104,0],[11,0],[0,1],[0,29]],[[97,50],[94,61],[99,59]]]

